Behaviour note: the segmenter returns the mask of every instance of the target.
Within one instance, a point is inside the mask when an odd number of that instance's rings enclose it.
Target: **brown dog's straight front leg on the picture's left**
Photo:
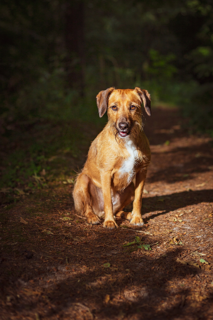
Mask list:
[[[101,174],[101,184],[102,184],[104,212],[105,212],[103,227],[109,228],[109,229],[118,228],[118,225],[115,222],[115,219],[113,217],[110,172],[103,172]]]

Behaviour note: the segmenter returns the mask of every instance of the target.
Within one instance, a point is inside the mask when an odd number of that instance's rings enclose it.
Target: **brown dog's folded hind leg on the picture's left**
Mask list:
[[[93,211],[94,197],[92,193],[94,191],[95,186],[92,180],[86,174],[81,173],[75,183],[73,199],[76,212],[84,215],[90,224],[100,222],[99,217]]]

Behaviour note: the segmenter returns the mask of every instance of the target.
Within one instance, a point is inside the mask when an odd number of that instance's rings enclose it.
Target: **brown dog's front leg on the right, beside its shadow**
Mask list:
[[[127,219],[131,218],[130,223],[136,226],[143,226],[144,221],[141,217],[141,206],[142,206],[142,194],[143,187],[146,180],[147,171],[143,170],[138,172],[135,177],[135,197],[133,201],[133,211],[127,216]]]

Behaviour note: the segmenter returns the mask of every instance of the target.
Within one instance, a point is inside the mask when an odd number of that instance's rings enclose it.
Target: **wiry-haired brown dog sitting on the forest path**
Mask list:
[[[104,228],[118,227],[114,215],[125,215],[131,224],[142,226],[141,202],[150,149],[142,127],[141,103],[151,116],[150,95],[137,87],[109,88],[96,98],[99,116],[107,110],[108,123],[92,142],[76,179],[75,210],[91,224],[99,223],[105,214]],[[122,211],[131,201],[133,211]]]

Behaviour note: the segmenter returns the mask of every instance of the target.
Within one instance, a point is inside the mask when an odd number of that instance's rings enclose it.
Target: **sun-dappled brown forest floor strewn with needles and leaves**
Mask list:
[[[165,108],[145,121],[152,159],[142,227],[118,218],[115,230],[103,219],[88,225],[74,211],[70,173],[48,180],[41,170],[34,178],[45,186],[16,188],[11,204],[0,190],[1,320],[213,319],[213,145],[182,121]],[[69,172],[90,139],[66,159]]]

